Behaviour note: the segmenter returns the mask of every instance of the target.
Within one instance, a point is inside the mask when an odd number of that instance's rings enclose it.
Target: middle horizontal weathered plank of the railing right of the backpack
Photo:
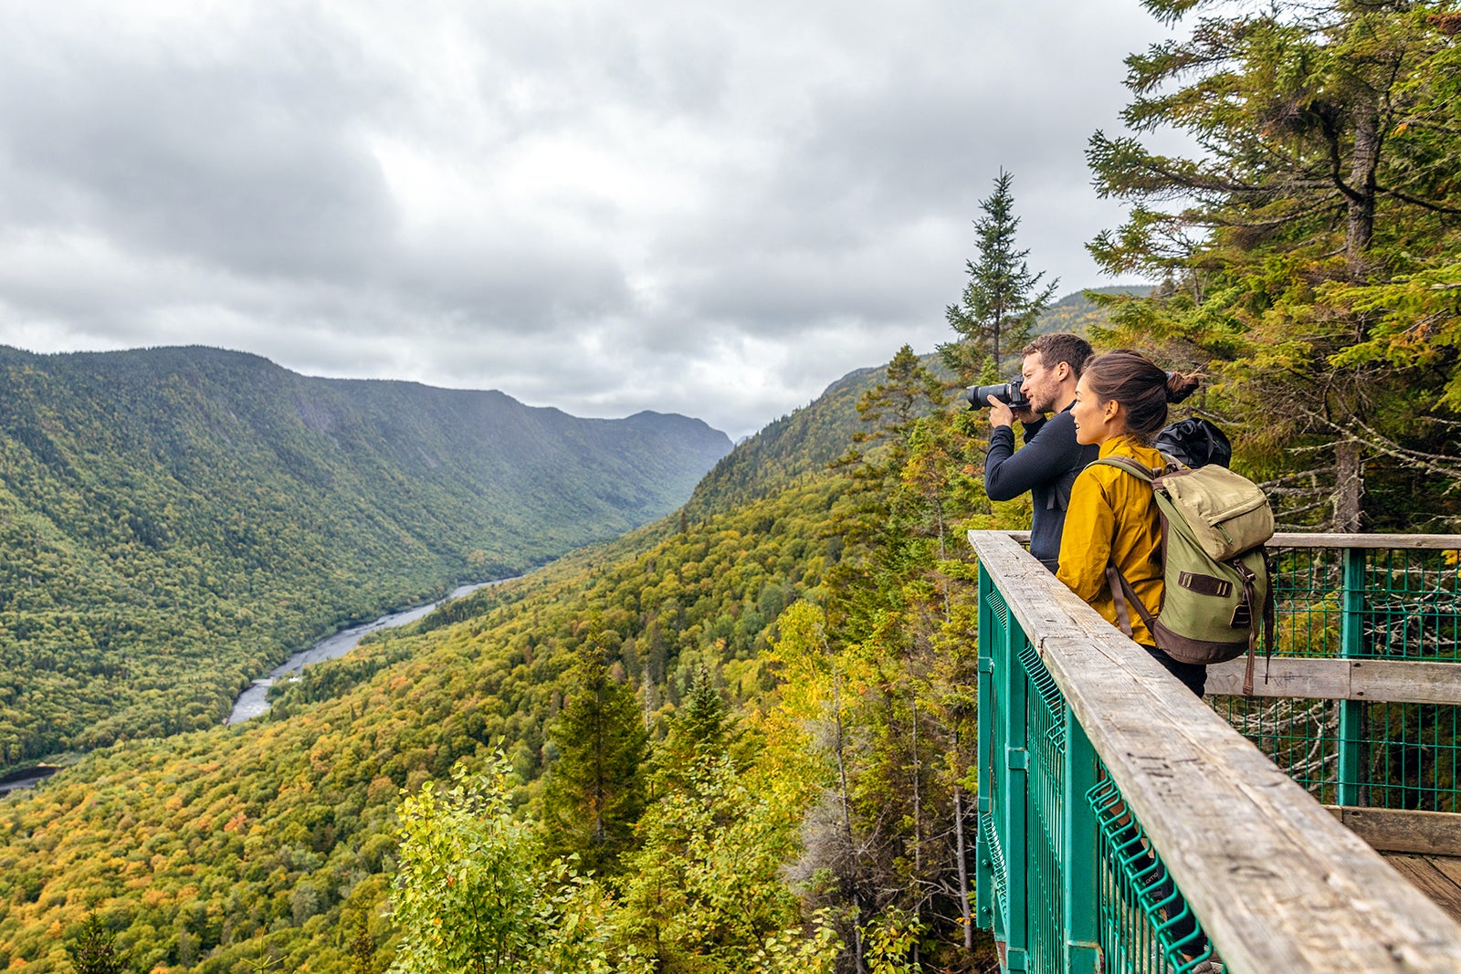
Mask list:
[[[1207,667],[1207,692],[1240,694],[1246,663],[1237,659]],[[1461,663],[1259,657],[1254,664],[1254,695],[1461,704]]]

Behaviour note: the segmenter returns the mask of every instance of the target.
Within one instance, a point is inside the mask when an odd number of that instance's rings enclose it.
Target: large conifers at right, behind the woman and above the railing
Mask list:
[[[1454,520],[1454,15],[1349,0],[1148,7],[1172,23],[1208,15],[1128,58],[1137,134],[1091,139],[1097,188],[1134,204],[1091,253],[1112,273],[1163,279],[1153,298],[1116,302],[1097,337],[1210,372],[1207,409],[1240,434],[1290,526]],[[1163,127],[1201,158],[1150,150],[1141,136]]]

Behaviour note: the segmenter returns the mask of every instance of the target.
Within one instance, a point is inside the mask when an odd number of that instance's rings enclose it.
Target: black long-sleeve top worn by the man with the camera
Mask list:
[[[1071,407],[1050,419],[1024,423],[1024,447],[1014,448],[1014,429],[995,426],[989,434],[989,456],[985,459],[985,494],[991,501],[1012,501],[1026,491],[1034,499],[1030,524],[1030,553],[1055,571],[1061,559],[1061,532],[1065,529],[1065,507],[1071,499],[1071,485],[1100,447],[1075,442],[1075,419]]]

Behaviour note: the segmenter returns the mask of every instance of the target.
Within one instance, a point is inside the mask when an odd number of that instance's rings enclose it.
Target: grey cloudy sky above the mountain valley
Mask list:
[[[950,337],[1014,174],[1112,283],[1084,146],[1138,0],[0,0],[0,343],[215,345],[732,437]]]

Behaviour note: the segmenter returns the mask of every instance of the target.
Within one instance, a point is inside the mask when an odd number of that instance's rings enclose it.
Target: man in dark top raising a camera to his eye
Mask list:
[[[1061,530],[1075,475],[1096,459],[1099,447],[1075,442],[1075,383],[1091,356],[1091,346],[1075,334],[1042,334],[1020,352],[1020,390],[1030,400],[1018,413],[989,397],[989,457],[985,460],[985,494],[991,501],[1012,501],[1026,491],[1034,499],[1030,553],[1055,571],[1061,559]],[[1045,413],[1055,413],[1046,419]],[[1015,453],[1014,421],[1024,426],[1024,447]]]

